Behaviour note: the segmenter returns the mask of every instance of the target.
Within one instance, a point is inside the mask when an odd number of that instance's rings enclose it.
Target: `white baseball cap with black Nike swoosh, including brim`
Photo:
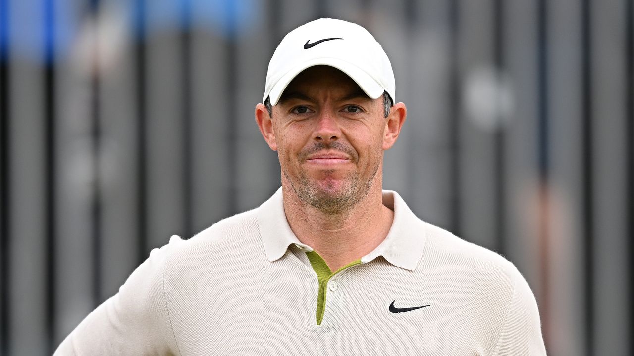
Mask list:
[[[289,32],[275,49],[266,73],[262,102],[276,105],[282,92],[302,70],[315,65],[335,67],[351,77],[372,99],[384,91],[396,103],[394,72],[387,54],[356,23],[320,18]]]

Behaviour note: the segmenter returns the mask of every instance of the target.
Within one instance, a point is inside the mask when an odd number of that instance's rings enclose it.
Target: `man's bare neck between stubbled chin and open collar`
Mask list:
[[[335,272],[373,251],[387,236],[394,212],[383,205],[380,186],[371,188],[349,210],[327,213],[301,201],[289,184],[282,184],[288,225]]]

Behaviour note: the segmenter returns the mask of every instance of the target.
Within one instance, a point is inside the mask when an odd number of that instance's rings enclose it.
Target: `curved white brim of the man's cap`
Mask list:
[[[354,80],[354,82],[356,82],[363,92],[372,99],[379,98],[385,91],[385,89],[383,89],[383,87],[380,86],[380,84],[378,84],[372,76],[347,61],[339,60],[337,58],[316,58],[314,60],[306,61],[302,63],[301,66],[288,71],[275,83],[271,92],[269,92],[268,95],[265,95],[262,101],[265,101],[268,96],[271,101],[271,105],[277,105],[281,94],[284,92],[291,80],[293,80],[299,73],[306,70],[306,68],[314,67],[316,65],[328,65],[346,73]]]

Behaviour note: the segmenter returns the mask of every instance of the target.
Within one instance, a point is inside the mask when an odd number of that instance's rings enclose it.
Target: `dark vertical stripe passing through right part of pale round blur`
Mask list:
[[[495,75],[497,76],[498,86],[501,85],[501,75],[505,72],[504,63],[504,2],[502,0],[495,0],[493,4],[493,61],[495,65]],[[498,87],[498,90],[501,89]],[[495,248],[500,254],[504,254],[506,251],[506,243],[504,232],[506,229],[505,223],[507,219],[506,204],[505,204],[505,125],[504,118],[501,115],[505,113],[500,109],[500,98],[496,99],[496,111],[495,111]]]

